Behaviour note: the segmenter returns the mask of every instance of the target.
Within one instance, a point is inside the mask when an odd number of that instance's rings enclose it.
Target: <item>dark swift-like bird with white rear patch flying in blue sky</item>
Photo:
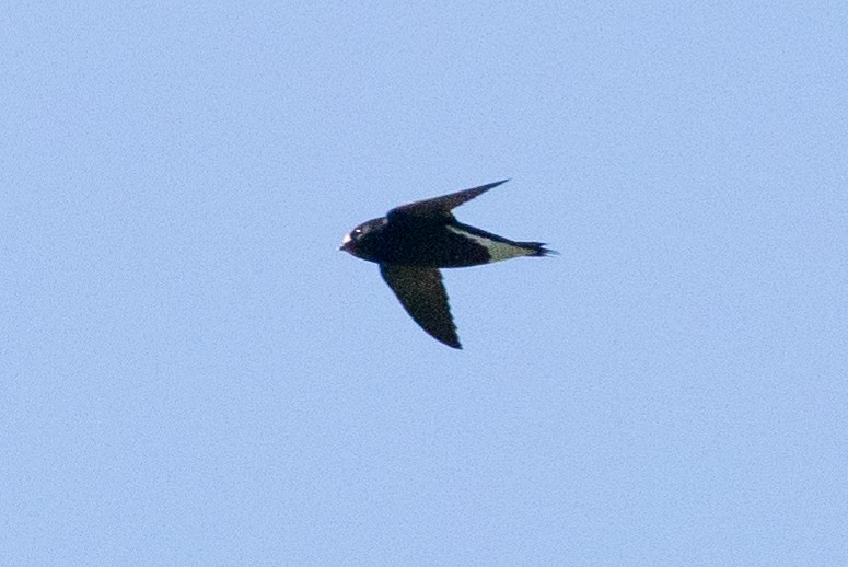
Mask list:
[[[383,280],[409,316],[440,343],[461,349],[440,268],[558,254],[544,242],[504,239],[453,216],[460,205],[508,181],[395,207],[347,233],[339,250],[379,264]]]

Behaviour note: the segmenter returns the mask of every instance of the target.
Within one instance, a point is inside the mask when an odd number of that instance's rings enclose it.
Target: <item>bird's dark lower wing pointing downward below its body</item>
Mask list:
[[[438,269],[381,264],[380,274],[421,328],[449,347],[462,348]]]

